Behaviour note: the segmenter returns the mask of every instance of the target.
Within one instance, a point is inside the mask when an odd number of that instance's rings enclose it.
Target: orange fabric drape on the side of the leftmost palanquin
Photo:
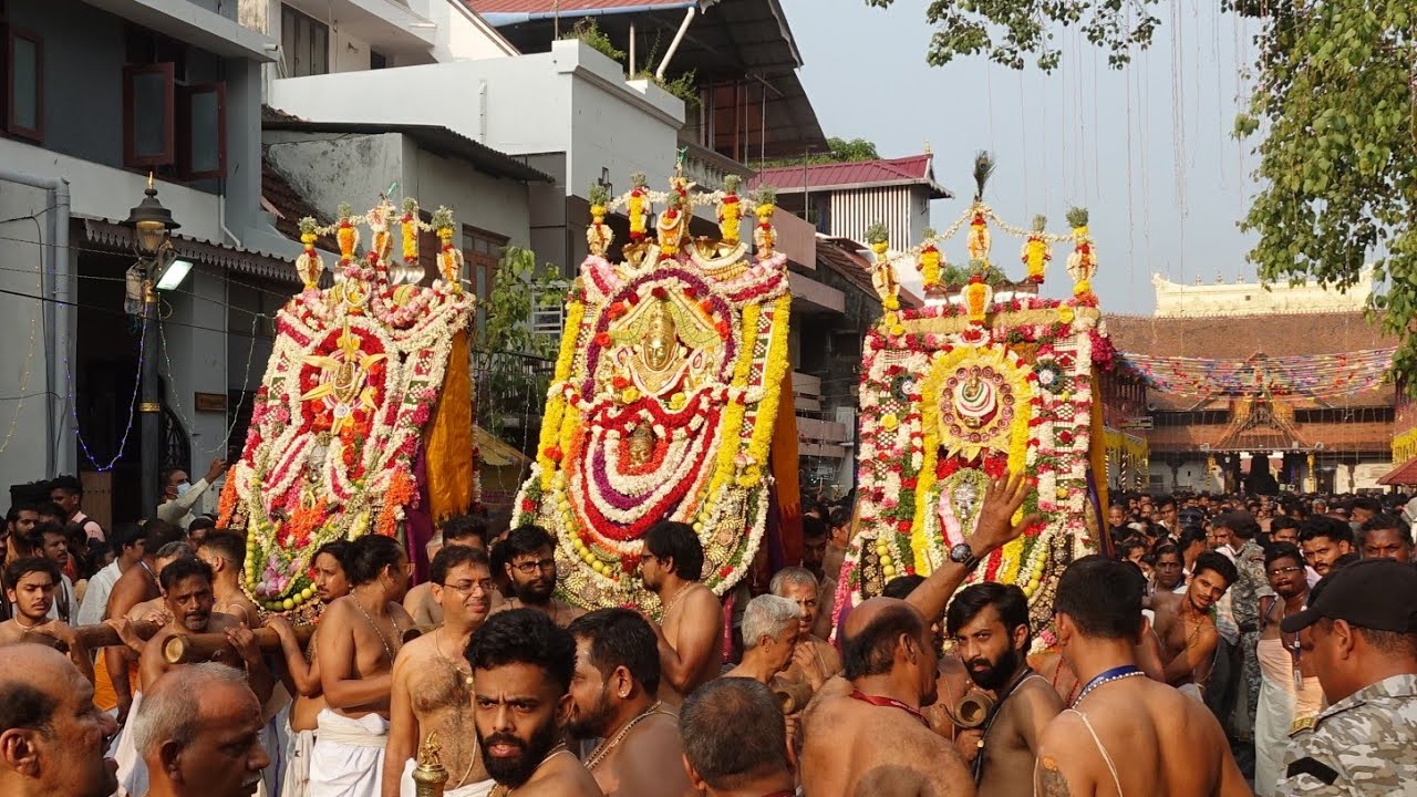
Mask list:
[[[442,394],[428,430],[428,513],[436,525],[472,508],[472,374],[468,332],[452,339]]]

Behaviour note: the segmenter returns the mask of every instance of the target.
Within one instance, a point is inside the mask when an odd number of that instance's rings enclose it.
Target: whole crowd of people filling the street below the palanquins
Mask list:
[[[193,513],[218,475],[164,474],[142,525],[86,518],[72,478],[11,506],[0,794],[404,797],[421,757],[449,797],[1417,794],[1396,496],[1114,496],[1040,651],[1019,587],[965,586],[1034,522],[1024,478],[835,617],[849,499],[723,597],[694,530],[653,526],[655,607],[564,603],[537,526],[448,519],[418,584],[391,537],[332,542],[310,625],[264,615],[241,530]]]

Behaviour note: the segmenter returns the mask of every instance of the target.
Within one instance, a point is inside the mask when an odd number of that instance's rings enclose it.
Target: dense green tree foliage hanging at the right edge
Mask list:
[[[1417,369],[1417,129],[1410,0],[1342,0],[1282,10],[1261,33],[1261,91],[1236,122],[1261,125],[1264,189],[1241,228],[1261,279],[1346,289],[1374,267],[1370,298],[1399,338],[1394,373]],[[1410,381],[1411,383],[1411,381]]]

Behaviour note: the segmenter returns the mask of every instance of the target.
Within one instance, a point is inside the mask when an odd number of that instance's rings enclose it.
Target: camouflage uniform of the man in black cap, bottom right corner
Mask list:
[[[1298,719],[1278,797],[1417,797],[1417,675],[1359,689]]]

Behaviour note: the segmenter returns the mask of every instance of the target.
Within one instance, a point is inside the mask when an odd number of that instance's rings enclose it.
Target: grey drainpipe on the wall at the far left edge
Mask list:
[[[67,393],[61,397],[58,387],[58,357],[60,347],[68,356],[72,340],[69,330],[74,326],[72,281],[69,271],[69,182],[64,177],[40,177],[0,169],[0,182],[18,183],[33,189],[43,189],[47,196],[44,213],[45,238],[43,265],[40,272],[41,318],[44,319],[44,472],[45,478],[52,478],[60,472],[75,472],[77,462],[74,452],[65,450],[60,454],[58,431],[60,418],[67,407]],[[52,301],[50,301],[52,299]],[[61,335],[62,330],[62,335]],[[58,403],[58,408],[55,408]]]

